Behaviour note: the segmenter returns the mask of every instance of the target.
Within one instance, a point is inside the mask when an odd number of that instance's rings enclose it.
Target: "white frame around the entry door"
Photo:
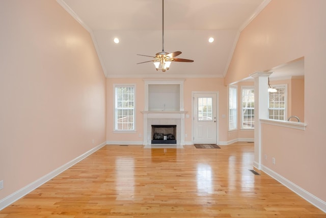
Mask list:
[[[215,105],[215,113],[216,113],[216,144],[219,144],[219,91],[192,91],[192,144],[194,144],[195,139],[195,94],[216,94],[216,105]]]

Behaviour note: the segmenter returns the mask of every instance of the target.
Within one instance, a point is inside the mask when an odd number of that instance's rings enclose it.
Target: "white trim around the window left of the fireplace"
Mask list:
[[[116,130],[116,87],[133,87],[134,91],[134,100],[133,100],[133,130]],[[136,125],[136,120],[137,120],[137,115],[136,115],[136,84],[135,83],[115,83],[113,84],[113,133],[136,133],[137,132],[137,125]]]

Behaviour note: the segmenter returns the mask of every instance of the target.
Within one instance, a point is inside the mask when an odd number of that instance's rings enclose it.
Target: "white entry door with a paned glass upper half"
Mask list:
[[[194,144],[216,144],[216,93],[194,94]]]

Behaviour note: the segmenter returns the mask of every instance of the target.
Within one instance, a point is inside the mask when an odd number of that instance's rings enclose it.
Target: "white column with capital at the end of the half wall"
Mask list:
[[[268,77],[273,72],[255,72],[255,147],[254,167],[261,169],[261,124],[260,119],[268,119]]]

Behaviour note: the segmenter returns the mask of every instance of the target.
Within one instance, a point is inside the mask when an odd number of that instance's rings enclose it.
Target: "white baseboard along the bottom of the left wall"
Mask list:
[[[75,159],[73,159],[73,160],[69,161],[68,163],[60,166],[59,168],[55,169],[54,171],[48,173],[47,175],[39,178],[38,180],[32,182],[31,184],[29,184],[29,185],[21,188],[20,190],[12,193],[10,196],[8,196],[8,197],[6,197],[4,199],[1,199],[0,200],[0,210],[4,209],[5,207],[8,207],[9,205],[11,205],[15,201],[19,200],[20,198],[24,197],[25,195],[27,195],[28,193],[30,193],[34,189],[38,188],[39,186],[43,185],[44,183],[46,183],[50,179],[58,176],[59,174],[64,172],[69,167],[71,167],[74,164],[78,163],[79,161],[83,160],[87,156],[93,154],[94,152],[96,152],[97,150],[99,150],[100,148],[105,146],[105,144],[106,144],[106,142],[103,142],[103,143],[99,144],[98,146],[96,146],[95,148],[89,150],[85,154],[82,154],[79,157],[76,157]]]

